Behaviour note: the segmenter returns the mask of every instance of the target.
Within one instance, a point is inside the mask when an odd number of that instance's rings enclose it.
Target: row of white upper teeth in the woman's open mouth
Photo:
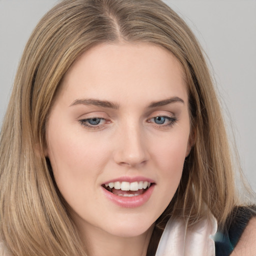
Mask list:
[[[134,181],[134,182],[127,182],[127,181],[116,181],[116,182],[109,182],[105,184],[106,187],[121,189],[122,191],[137,191],[138,189],[145,189],[150,186],[150,182],[147,181]]]

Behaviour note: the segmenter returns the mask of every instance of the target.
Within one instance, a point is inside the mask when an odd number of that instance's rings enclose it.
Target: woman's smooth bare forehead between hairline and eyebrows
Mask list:
[[[76,59],[62,79],[60,94],[127,102],[143,95],[154,101],[186,99],[186,87],[183,68],[167,49],[142,42],[104,43]]]

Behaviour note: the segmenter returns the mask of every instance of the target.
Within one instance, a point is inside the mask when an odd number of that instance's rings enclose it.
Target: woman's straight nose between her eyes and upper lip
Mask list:
[[[139,125],[126,125],[117,136],[114,161],[123,166],[138,167],[149,159],[145,134]]]

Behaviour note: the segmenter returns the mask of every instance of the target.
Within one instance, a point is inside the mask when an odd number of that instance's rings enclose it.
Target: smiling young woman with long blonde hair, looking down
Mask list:
[[[63,0],[46,13],[0,146],[10,255],[255,252],[201,49],[159,0]]]

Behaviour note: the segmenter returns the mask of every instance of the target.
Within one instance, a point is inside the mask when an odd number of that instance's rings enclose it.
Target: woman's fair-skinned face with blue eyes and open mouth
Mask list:
[[[49,114],[56,184],[80,230],[136,236],[169,204],[189,153],[186,84],[153,44],[100,44],[68,69]]]

